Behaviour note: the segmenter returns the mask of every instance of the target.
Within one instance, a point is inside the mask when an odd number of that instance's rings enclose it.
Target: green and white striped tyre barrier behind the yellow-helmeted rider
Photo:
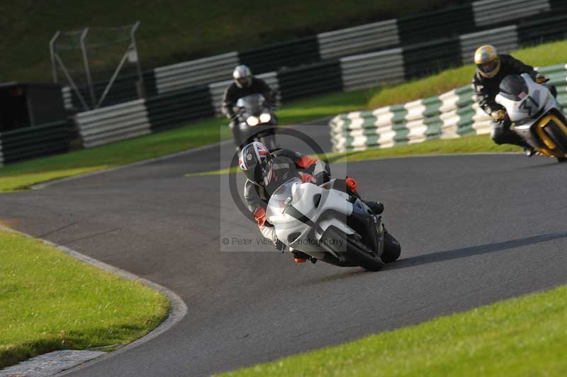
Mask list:
[[[559,103],[566,106],[567,64],[538,70],[551,79]],[[463,86],[441,96],[402,105],[340,114],[330,121],[333,150],[365,150],[490,133],[490,117],[474,101],[473,94],[471,86]]]

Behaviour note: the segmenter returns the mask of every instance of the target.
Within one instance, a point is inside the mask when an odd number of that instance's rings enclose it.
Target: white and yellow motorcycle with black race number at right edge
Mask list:
[[[534,82],[529,74],[510,74],[500,83],[495,101],[506,108],[510,129],[536,152],[567,161],[567,120],[546,86]]]

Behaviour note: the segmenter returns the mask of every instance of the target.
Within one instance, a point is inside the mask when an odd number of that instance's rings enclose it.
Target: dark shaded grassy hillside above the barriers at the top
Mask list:
[[[48,43],[57,30],[139,20],[137,45],[142,67],[147,69],[468,2],[360,0],[353,6],[337,0],[264,0],[244,6],[226,0],[4,0],[0,2],[4,16],[0,82],[50,81]],[[91,59],[96,60],[93,55]],[[104,59],[98,63],[106,64]],[[108,67],[116,64],[112,60]]]

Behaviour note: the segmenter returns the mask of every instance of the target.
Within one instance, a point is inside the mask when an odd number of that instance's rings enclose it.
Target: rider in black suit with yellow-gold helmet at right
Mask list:
[[[546,78],[539,74],[534,67],[520,62],[510,55],[498,54],[491,45],[478,47],[474,55],[476,72],[473,77],[473,86],[476,92],[478,105],[493,118],[493,129],[490,137],[496,144],[513,144],[523,147],[528,156],[534,154],[533,148],[512,130],[504,106],[496,103],[500,81],[509,74],[529,74],[538,84],[546,82]],[[548,86],[551,94],[557,95],[555,86]]]

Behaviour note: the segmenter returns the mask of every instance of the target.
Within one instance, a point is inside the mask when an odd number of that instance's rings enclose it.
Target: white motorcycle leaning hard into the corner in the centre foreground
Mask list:
[[[266,219],[278,239],[313,263],[378,271],[383,263],[398,259],[400,244],[386,231],[381,216],[353,193],[335,188],[337,181],[317,186],[293,176],[276,188]]]

